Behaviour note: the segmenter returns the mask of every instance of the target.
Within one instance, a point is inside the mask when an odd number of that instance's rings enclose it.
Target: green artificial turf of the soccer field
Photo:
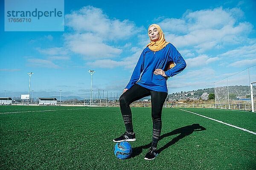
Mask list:
[[[182,109],[256,131],[255,113]],[[0,106],[0,113],[36,111],[0,114],[0,169],[256,169],[256,135],[176,108],[163,108],[160,153],[144,160],[151,108],[131,110],[136,141],[131,158],[120,160],[113,153],[125,131],[120,108]]]

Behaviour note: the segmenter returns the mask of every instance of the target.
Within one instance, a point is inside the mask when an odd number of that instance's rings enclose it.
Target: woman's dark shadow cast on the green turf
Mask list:
[[[163,147],[158,149],[157,152],[160,153],[163,150],[165,150],[166,148],[168,148],[169,146],[172,146],[173,144],[178,142],[180,139],[182,139],[182,138],[184,138],[186,136],[189,136],[193,132],[202,131],[202,130],[206,130],[206,128],[204,128],[203,126],[200,126],[199,124],[193,124],[193,125],[188,125],[188,126],[180,127],[178,129],[173,130],[172,132],[163,134],[163,135],[160,136],[159,141],[161,139],[165,138],[165,137],[168,137],[168,136],[172,136],[172,135],[176,135],[176,134],[180,134],[180,135],[178,135],[177,137],[173,138],[170,142],[168,142]],[[145,145],[140,146],[140,147],[132,148],[132,153],[131,153],[131,157],[130,158],[133,158],[135,156],[140,155],[140,153],[142,153],[142,149],[148,149],[149,147],[151,147],[151,142],[149,144],[145,144]]]

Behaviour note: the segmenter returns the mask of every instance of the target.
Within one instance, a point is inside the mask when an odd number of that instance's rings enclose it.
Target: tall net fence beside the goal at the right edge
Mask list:
[[[250,82],[256,82],[256,65],[215,82],[216,107],[251,110]]]

